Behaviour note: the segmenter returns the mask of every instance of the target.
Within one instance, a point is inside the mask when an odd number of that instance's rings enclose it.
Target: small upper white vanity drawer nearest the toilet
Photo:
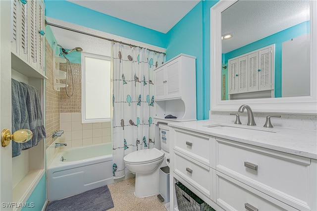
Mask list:
[[[210,137],[175,128],[174,149],[210,166]]]

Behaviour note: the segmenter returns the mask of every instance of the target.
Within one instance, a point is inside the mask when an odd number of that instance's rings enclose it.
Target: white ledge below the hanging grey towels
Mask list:
[[[29,171],[23,179],[13,188],[12,200],[15,203],[26,203],[31,193],[41,180],[45,169]],[[16,208],[18,209],[18,208]],[[15,209],[15,210],[16,210]],[[14,209],[13,209],[14,210]]]

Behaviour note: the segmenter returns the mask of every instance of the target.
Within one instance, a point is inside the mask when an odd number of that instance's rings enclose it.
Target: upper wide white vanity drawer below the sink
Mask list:
[[[311,210],[311,160],[216,139],[216,170],[299,210]]]

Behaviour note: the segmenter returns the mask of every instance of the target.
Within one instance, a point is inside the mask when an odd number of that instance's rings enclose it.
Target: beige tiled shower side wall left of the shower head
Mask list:
[[[46,148],[48,148],[56,138],[52,137],[55,130],[59,130],[59,92],[53,88],[53,49],[49,42],[45,42],[45,71],[48,79],[45,83],[46,95]]]

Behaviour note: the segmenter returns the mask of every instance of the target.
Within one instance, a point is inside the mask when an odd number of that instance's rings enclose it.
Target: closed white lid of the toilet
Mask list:
[[[128,163],[147,163],[153,162],[164,157],[164,153],[156,148],[138,150],[126,155],[123,160]]]

